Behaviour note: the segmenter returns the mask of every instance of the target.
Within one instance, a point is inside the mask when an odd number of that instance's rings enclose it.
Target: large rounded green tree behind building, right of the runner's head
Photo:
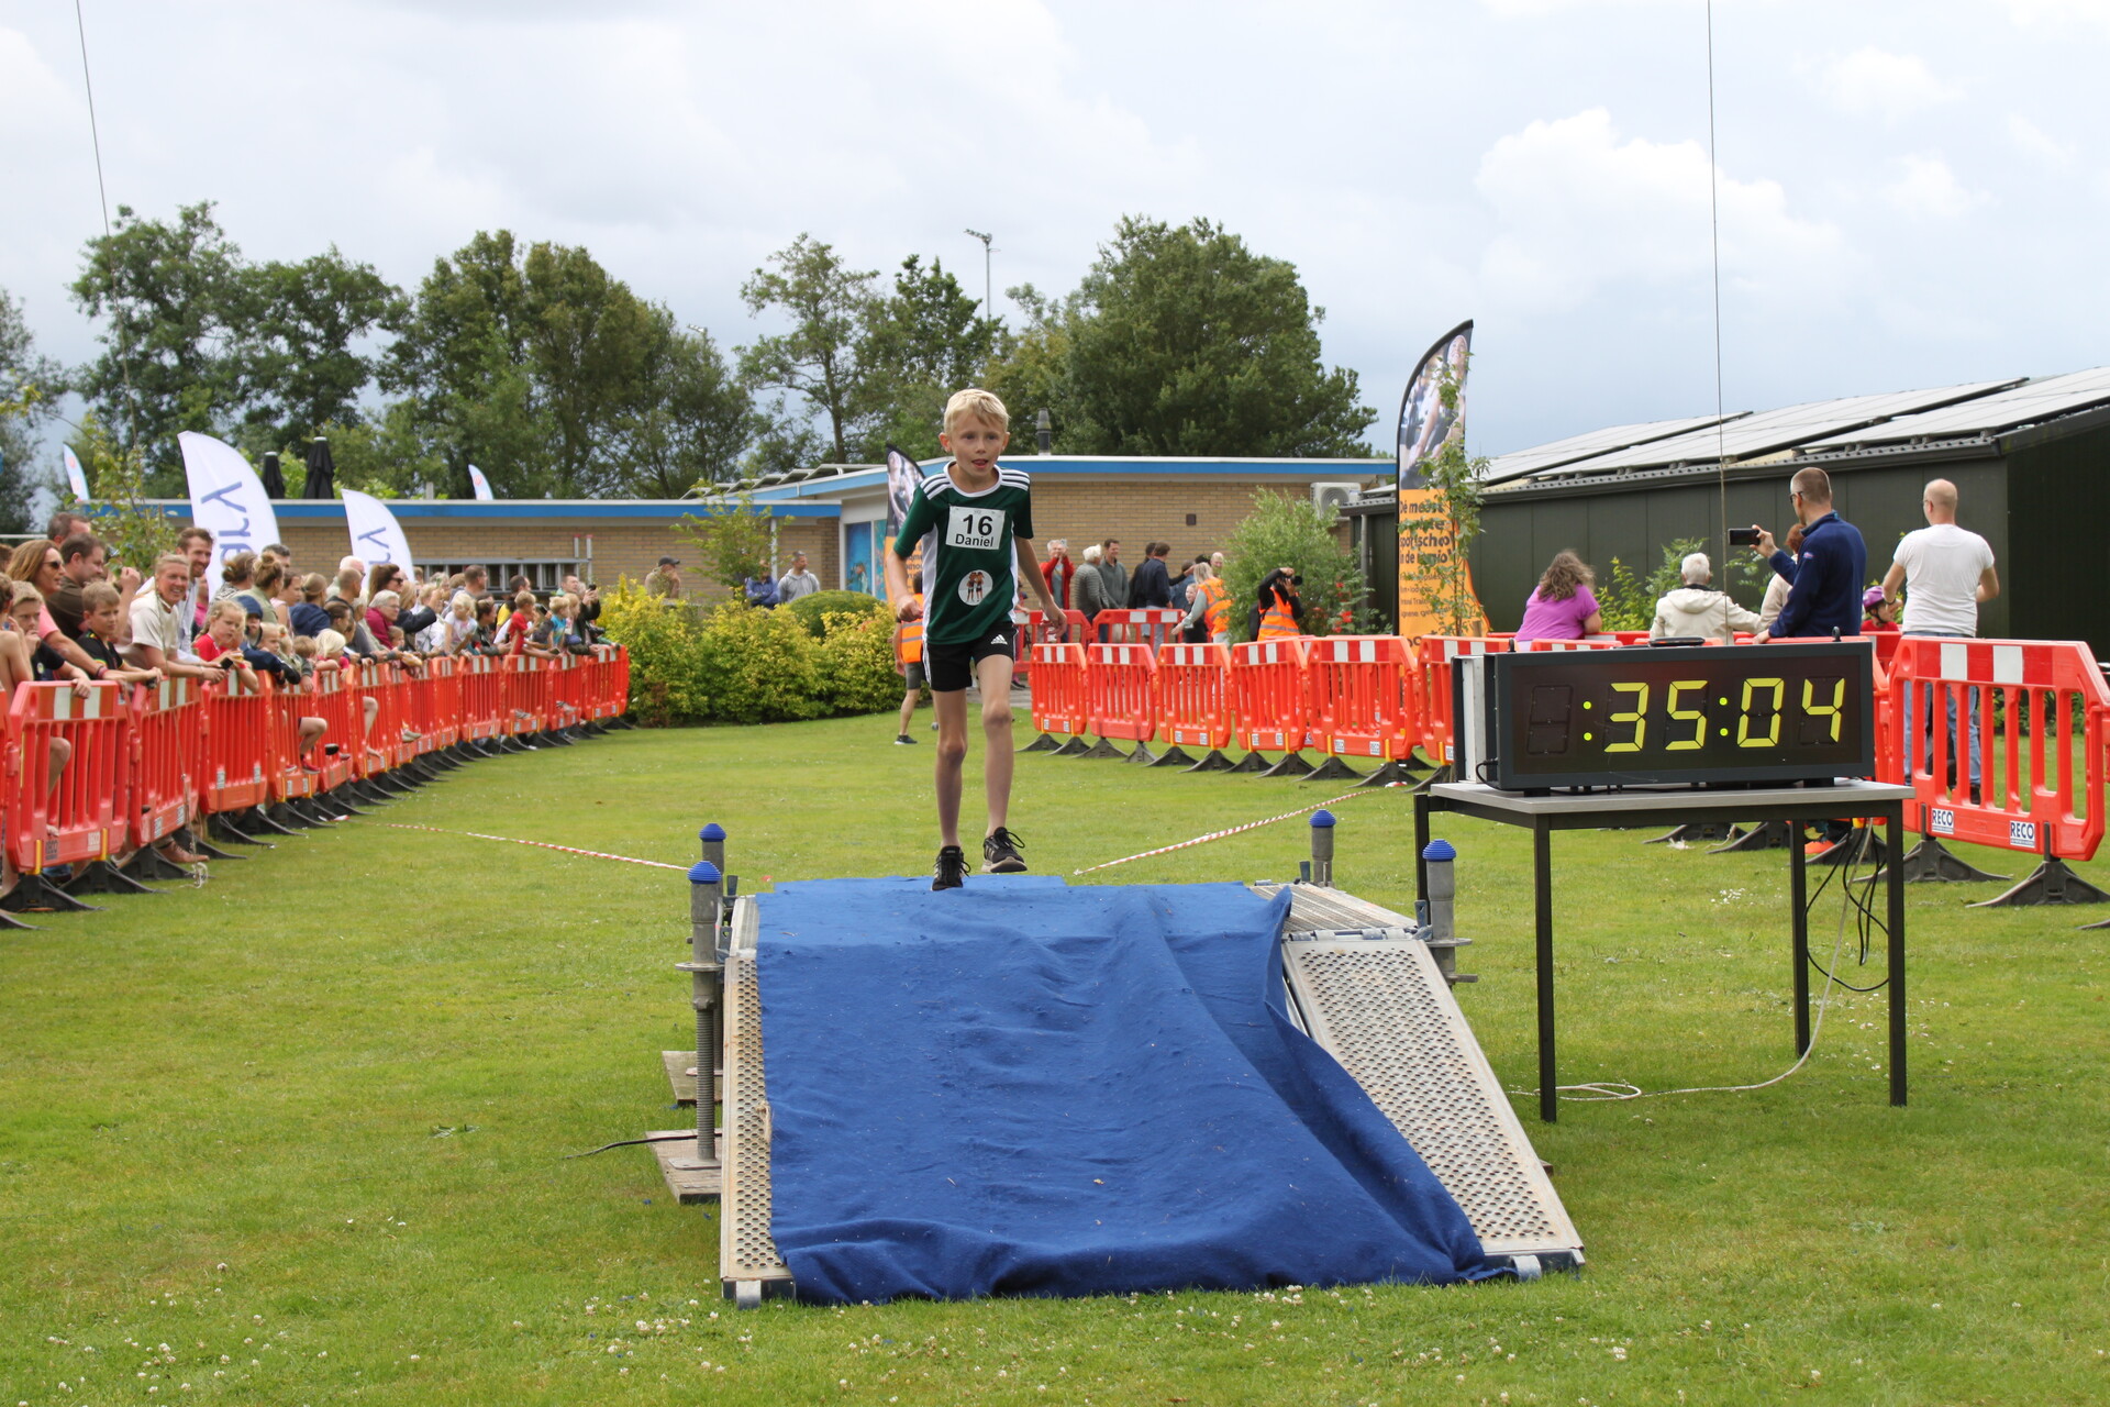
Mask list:
[[[1059,367],[1042,394],[1072,454],[1369,451],[1355,371],[1319,359],[1325,310],[1217,224],[1123,217],[1076,297],[1040,312],[990,380],[1030,380],[1021,356]]]

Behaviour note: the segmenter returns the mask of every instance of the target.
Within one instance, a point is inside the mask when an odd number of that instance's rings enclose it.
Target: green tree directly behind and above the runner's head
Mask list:
[[[920,460],[935,456],[945,401],[977,382],[998,327],[939,259],[931,268],[914,253],[903,259],[893,295],[876,300],[865,323],[861,354],[878,413],[859,447],[863,458],[886,458],[888,443]]]

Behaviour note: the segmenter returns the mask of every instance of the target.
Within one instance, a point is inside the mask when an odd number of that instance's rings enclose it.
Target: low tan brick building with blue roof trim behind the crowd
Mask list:
[[[943,460],[931,460],[935,468]],[[1144,542],[1173,544],[1173,555],[1215,551],[1253,506],[1258,489],[1344,502],[1355,489],[1393,470],[1390,460],[1184,460],[1011,456],[1034,477],[1038,542],[1068,538],[1072,557],[1085,544],[1118,538],[1123,559],[1142,559]],[[751,485],[753,502],[776,523],[779,572],[791,553],[806,553],[823,586],[878,586],[886,529],[886,468],[823,464],[770,475]],[[175,521],[190,521],[186,500],[162,500]],[[565,572],[603,589],[620,576],[641,580],[660,557],[686,563],[688,595],[711,597],[696,570],[694,544],[679,525],[696,500],[428,500],[395,498],[388,508],[409,538],[422,570],[483,563],[502,582],[523,574],[538,589],[557,586]],[[344,504],[279,500],[279,534],[300,570],[329,572],[350,551]]]

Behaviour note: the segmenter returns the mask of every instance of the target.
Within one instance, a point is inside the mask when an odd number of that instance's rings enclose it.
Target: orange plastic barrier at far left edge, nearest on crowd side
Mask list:
[[[6,848],[25,875],[127,846],[124,686],[21,683],[6,715]],[[72,749],[53,770],[53,743]],[[65,751],[65,749],[61,749]]]

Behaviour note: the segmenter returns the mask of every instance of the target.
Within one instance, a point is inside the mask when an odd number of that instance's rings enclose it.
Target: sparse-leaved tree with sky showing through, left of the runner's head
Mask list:
[[[741,352],[741,375],[751,386],[804,397],[827,422],[825,443],[836,462],[848,462],[852,441],[863,439],[880,401],[863,338],[874,316],[871,283],[880,274],[848,268],[831,245],[810,234],[772,253],[768,264],[741,285],[741,300],[751,316],[772,308],[785,312],[791,331],[755,338]],[[781,399],[774,409],[783,416]],[[776,437],[795,439],[795,430],[779,422]]]

